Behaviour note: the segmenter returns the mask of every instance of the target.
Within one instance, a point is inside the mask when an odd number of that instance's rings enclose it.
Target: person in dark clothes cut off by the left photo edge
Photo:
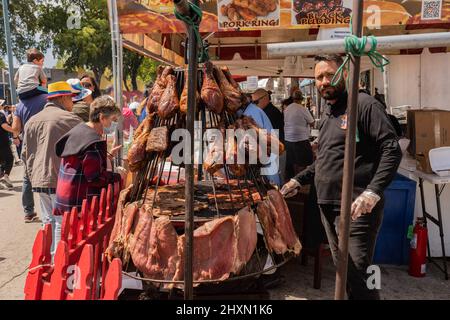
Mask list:
[[[10,134],[14,133],[8,118],[9,114],[0,112],[0,190],[14,188],[9,175],[14,166],[14,156],[11,150]]]

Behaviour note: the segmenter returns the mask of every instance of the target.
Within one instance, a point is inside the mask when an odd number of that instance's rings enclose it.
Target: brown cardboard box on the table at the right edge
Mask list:
[[[450,146],[450,111],[409,110],[407,119],[407,136],[411,140],[408,152],[416,158],[419,170],[432,173],[429,151]]]

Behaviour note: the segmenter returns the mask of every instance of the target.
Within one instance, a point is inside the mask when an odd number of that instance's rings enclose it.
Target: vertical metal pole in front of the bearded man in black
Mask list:
[[[363,3],[353,0],[353,34],[362,35]],[[339,250],[337,257],[335,299],[345,298],[347,286],[348,240],[350,234],[350,209],[352,205],[355,171],[357,103],[361,58],[352,57],[349,70],[348,129],[345,142],[344,177],[342,183],[341,215],[339,219]]]

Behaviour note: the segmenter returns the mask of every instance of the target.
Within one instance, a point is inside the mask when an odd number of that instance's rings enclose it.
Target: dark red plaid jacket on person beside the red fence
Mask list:
[[[79,130],[77,133],[80,133]],[[100,196],[102,188],[116,181],[120,181],[120,175],[107,171],[106,141],[96,141],[78,154],[63,155],[56,188],[55,214],[63,215],[73,207],[80,211],[84,199],[90,201],[92,197]]]

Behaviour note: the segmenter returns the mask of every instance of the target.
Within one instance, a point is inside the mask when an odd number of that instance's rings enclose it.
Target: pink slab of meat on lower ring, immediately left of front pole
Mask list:
[[[178,256],[178,235],[168,217],[153,219],[149,208],[142,208],[130,241],[134,265],[146,277],[172,280]]]

